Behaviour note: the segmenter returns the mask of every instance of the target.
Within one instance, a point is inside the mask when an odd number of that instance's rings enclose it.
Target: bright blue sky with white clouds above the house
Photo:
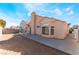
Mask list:
[[[40,16],[54,17],[71,25],[79,24],[78,3],[0,3],[0,19],[6,27],[19,25],[21,20],[29,21],[31,12]]]

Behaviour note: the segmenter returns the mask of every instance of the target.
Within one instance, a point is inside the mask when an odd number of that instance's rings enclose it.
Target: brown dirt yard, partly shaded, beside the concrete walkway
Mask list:
[[[2,55],[65,55],[66,53],[47,47],[21,35],[6,34],[0,37]]]

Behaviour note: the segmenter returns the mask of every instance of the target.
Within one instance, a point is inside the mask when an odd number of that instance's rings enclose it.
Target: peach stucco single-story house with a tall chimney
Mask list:
[[[29,32],[47,38],[64,39],[69,33],[69,25],[65,21],[56,18],[38,16],[35,12],[31,14]]]

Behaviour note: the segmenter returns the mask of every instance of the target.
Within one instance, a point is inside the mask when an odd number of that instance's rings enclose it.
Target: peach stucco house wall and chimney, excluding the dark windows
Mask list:
[[[54,26],[54,35],[43,35],[42,26],[48,24],[49,26]],[[39,28],[37,26],[40,26]],[[68,24],[63,21],[57,21],[52,18],[41,17],[35,14],[32,14],[32,20],[30,23],[31,33],[38,34],[40,36],[48,38],[58,38],[64,39],[68,34]]]

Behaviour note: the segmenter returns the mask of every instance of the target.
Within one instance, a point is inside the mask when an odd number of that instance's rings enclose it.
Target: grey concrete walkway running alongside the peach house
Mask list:
[[[30,34],[23,34],[22,36],[30,38],[34,41],[37,41],[49,47],[56,48],[60,51],[73,54],[73,55],[79,55],[79,42],[76,42],[72,38],[72,35],[70,35],[64,40],[49,39],[49,38],[44,38],[38,35],[30,35]]]

